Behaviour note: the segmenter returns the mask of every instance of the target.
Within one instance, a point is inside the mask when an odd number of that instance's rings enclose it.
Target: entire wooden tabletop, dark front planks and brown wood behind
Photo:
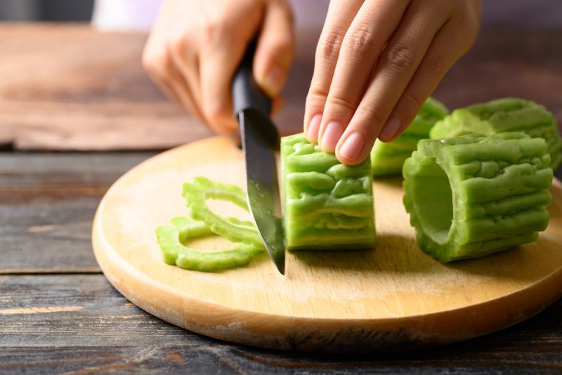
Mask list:
[[[20,77],[19,81],[19,76],[13,77],[18,71],[14,61],[20,56],[18,62],[22,64],[32,65],[32,60],[37,64],[38,56],[26,55],[29,52],[18,43],[10,44],[11,39],[3,37],[10,32],[21,38],[27,35],[32,39],[30,35],[34,35],[38,46],[41,38],[51,38],[55,33],[68,34],[70,41],[81,37],[84,43],[93,44],[111,39],[115,49],[122,46],[128,52],[121,63],[103,65],[103,61],[96,62],[93,57],[95,51],[66,51],[74,54],[75,66],[89,66],[92,77],[114,79],[96,81],[81,77],[70,82],[79,76],[69,78],[57,70],[51,73],[58,76],[49,78],[49,82],[58,78],[58,84],[34,87],[29,77]],[[122,173],[157,151],[37,150],[144,150],[169,147],[208,133],[198,124],[185,126],[185,121],[192,120],[166,103],[141,70],[129,76],[118,74],[124,74],[126,62],[133,64],[131,56],[140,54],[144,37],[111,36],[108,39],[107,34],[82,26],[0,27],[0,46],[13,51],[11,65],[4,62],[4,54],[0,59],[0,138],[4,136],[5,145],[5,151],[0,152],[1,373],[562,371],[562,301],[515,327],[464,343],[408,353],[367,355],[284,353],[231,345],[174,327],[129,303],[111,287],[93,258],[91,223],[107,188]],[[445,77],[436,96],[446,98],[445,102],[452,107],[508,94],[525,96],[546,104],[560,120],[562,29],[485,29],[483,36],[485,40],[481,37],[473,51]],[[131,40],[136,40],[136,44],[131,46]],[[306,43],[313,43],[312,37]],[[496,48],[490,48],[495,44]],[[305,47],[301,42],[299,51],[313,49],[310,45]],[[44,51],[37,53],[41,55]],[[296,67],[302,70],[294,74],[310,74],[305,61],[297,61]],[[38,81],[48,75],[30,74]],[[301,82],[289,83],[288,102],[292,104],[285,114],[280,114],[281,121],[301,116],[299,100],[306,87],[299,88],[299,84],[303,86]],[[304,93],[299,93],[301,89]],[[154,142],[146,140],[152,133],[136,135],[136,140],[127,143],[131,124],[143,119],[143,129],[168,126],[169,133],[166,137],[157,136]],[[116,129],[111,131],[107,121]],[[81,135],[80,129],[72,129],[72,122],[79,124],[88,136]],[[299,126],[286,126],[285,131]],[[171,137],[178,134],[183,135],[175,140]],[[125,141],[104,146],[104,138],[119,137]],[[558,171],[557,176],[561,178],[562,173]]]

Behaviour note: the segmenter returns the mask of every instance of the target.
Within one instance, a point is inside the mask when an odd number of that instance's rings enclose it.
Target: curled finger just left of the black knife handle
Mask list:
[[[201,100],[209,125],[221,133],[233,133],[238,124],[230,85],[249,40],[258,30],[263,8],[256,9],[254,1],[230,1],[221,12],[218,20],[209,22],[202,43]]]

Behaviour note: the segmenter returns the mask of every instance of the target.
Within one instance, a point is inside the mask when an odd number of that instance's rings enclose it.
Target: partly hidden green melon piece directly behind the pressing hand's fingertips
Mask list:
[[[449,113],[447,107],[438,100],[428,98],[421,106],[412,124],[396,140],[381,142],[377,140],[371,151],[373,176],[400,175],[405,159],[416,150],[420,139],[429,138],[433,125]]]

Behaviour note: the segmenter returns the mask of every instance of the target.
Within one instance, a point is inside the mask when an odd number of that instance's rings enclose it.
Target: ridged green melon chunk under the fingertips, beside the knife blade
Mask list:
[[[362,249],[376,244],[370,160],[341,164],[303,133],[281,139],[287,249]]]

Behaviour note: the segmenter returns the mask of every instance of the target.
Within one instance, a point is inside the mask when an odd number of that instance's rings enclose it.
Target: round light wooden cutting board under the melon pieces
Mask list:
[[[166,265],[155,228],[185,214],[184,181],[244,186],[242,152],[208,138],[164,152],[119,178],[93,224],[105,276],[130,301],[190,331],[251,346],[341,352],[460,341],[508,327],[562,294],[562,184],[537,242],[443,265],[419,249],[401,180],[374,183],[377,249],[287,253],[285,277],[266,254],[244,268],[203,273]],[[247,215],[212,201],[218,213]],[[226,240],[190,244],[224,249]]]

